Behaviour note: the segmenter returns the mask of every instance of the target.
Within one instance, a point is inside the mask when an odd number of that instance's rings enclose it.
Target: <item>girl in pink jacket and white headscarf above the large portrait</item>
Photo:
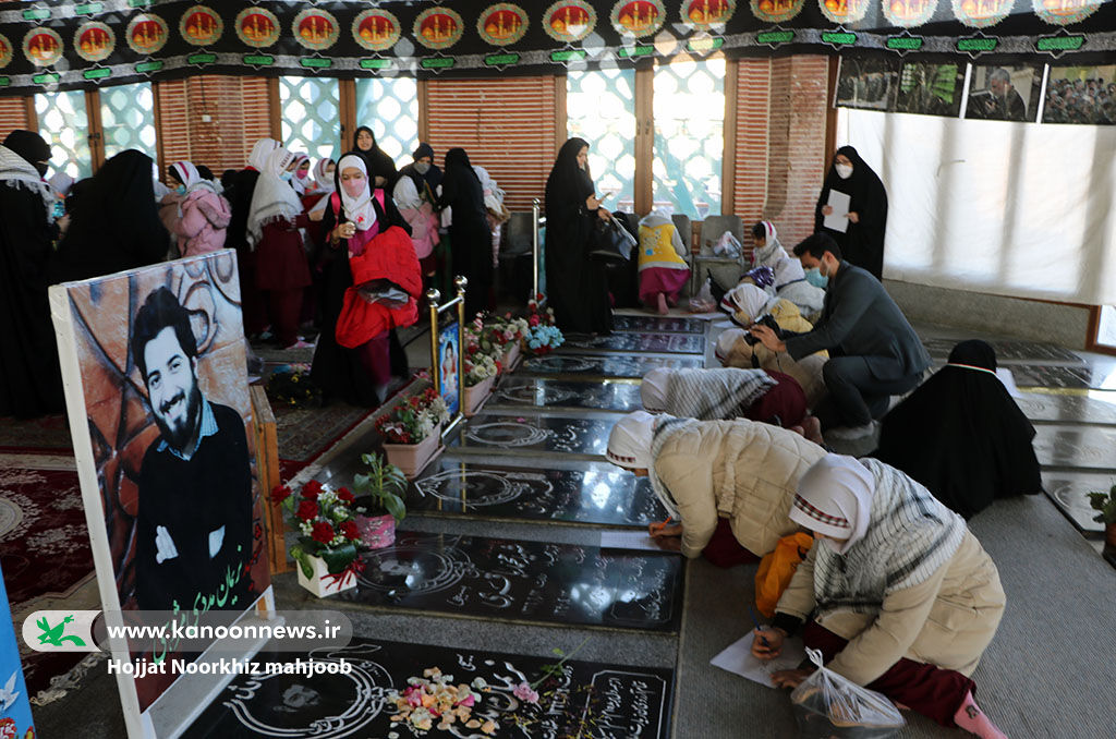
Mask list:
[[[174,195],[164,198],[160,217],[175,238],[177,257],[193,257],[224,247],[231,212],[229,201],[218,194],[213,182],[205,180],[190,162],[175,162],[171,174],[180,183]]]

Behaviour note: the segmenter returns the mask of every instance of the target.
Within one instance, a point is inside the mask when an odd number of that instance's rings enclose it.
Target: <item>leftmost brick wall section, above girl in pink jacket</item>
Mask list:
[[[202,75],[156,86],[163,169],[186,160],[220,176],[227,169],[242,169],[252,144],[271,135],[262,77]]]

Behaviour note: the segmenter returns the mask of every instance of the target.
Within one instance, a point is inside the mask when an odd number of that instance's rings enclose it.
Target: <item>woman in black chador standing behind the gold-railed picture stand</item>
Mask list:
[[[437,208],[453,209],[450,252],[454,275],[464,275],[465,316],[472,318],[489,307],[492,290],[492,231],[484,210],[484,190],[463,148],[445,153],[445,174]]]

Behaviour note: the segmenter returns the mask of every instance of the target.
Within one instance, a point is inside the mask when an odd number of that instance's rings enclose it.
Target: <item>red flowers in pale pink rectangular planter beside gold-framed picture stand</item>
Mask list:
[[[442,451],[442,424],[450,418],[433,387],[397,403],[376,421],[387,461],[411,480]]]

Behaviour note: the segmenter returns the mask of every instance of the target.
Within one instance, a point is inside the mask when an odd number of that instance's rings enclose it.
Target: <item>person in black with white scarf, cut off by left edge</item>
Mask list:
[[[54,195],[42,181],[50,147],[13,131],[0,146],[0,416],[32,418],[64,407],[58,347],[47,304]]]

